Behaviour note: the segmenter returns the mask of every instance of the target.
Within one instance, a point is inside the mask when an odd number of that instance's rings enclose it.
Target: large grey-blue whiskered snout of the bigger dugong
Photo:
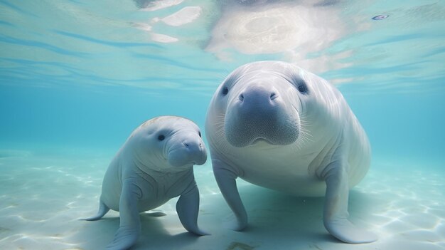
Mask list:
[[[250,85],[242,89],[227,108],[225,135],[234,147],[257,140],[273,145],[289,145],[299,135],[298,114],[289,112],[273,86]]]

